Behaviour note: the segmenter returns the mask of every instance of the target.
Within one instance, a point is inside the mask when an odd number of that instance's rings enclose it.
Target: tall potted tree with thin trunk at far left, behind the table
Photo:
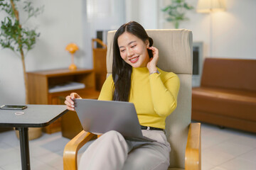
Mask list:
[[[17,7],[22,9],[23,13],[27,14],[26,20],[23,22],[20,20]],[[3,48],[9,48],[16,53],[16,55],[21,57],[26,91],[26,104],[28,104],[28,82],[26,78],[25,55],[29,50],[32,50],[36,43],[36,38],[38,38],[40,34],[36,33],[36,29],[27,28],[26,22],[31,17],[36,17],[38,14],[42,13],[43,6],[34,8],[31,1],[21,2],[21,0],[0,0],[0,9],[1,11],[6,12],[6,17],[1,21],[0,45]],[[41,136],[41,129],[39,133],[38,129],[33,130],[30,128],[30,130],[30,140]]]

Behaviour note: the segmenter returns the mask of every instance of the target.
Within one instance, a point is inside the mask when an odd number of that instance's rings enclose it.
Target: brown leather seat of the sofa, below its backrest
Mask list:
[[[213,87],[192,91],[193,111],[256,120],[256,92]]]

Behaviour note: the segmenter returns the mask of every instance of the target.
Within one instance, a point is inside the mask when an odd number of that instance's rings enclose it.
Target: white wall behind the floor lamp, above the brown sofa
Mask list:
[[[169,0],[159,1],[160,6]],[[196,7],[197,0],[187,1]],[[184,21],[180,28],[193,31],[194,41],[203,41],[205,57],[256,59],[256,1],[225,0],[226,11],[212,13],[212,55],[210,55],[210,14],[188,11],[190,21]],[[159,28],[174,28],[159,15]]]

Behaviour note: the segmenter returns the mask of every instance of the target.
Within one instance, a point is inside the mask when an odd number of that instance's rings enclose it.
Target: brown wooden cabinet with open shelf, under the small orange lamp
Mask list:
[[[29,104],[64,104],[63,98],[70,93],[80,94],[82,98],[97,98],[100,94],[95,90],[95,72],[93,69],[52,69],[38,72],[27,72],[28,101]],[[49,93],[49,86],[75,81],[85,84],[84,89],[60,91]],[[62,98],[62,99],[60,99]],[[47,133],[58,132],[61,129],[61,120],[58,119],[43,131]]]

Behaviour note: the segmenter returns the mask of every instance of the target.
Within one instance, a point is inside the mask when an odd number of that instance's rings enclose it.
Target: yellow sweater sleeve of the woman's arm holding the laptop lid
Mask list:
[[[105,80],[102,89],[100,91],[99,101],[112,101],[112,91],[113,91],[114,81],[112,79],[112,74]]]

